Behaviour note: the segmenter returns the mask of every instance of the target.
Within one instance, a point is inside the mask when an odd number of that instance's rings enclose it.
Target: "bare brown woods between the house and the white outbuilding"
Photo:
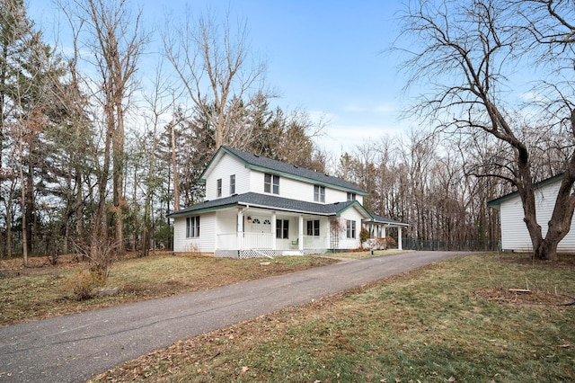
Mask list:
[[[410,225],[403,230],[404,248],[495,251],[500,217],[487,202],[513,188],[500,178],[473,174],[480,153],[460,145],[429,130],[378,138],[341,156],[338,174],[369,191],[367,209]],[[476,149],[503,150],[489,142]],[[537,180],[561,173],[560,164],[552,153],[538,157]]]

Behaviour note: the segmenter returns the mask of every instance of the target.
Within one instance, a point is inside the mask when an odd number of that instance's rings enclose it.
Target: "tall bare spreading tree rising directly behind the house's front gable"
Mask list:
[[[216,147],[238,147],[251,139],[241,116],[261,94],[265,66],[249,60],[247,39],[245,21],[234,28],[229,14],[218,25],[212,14],[194,19],[189,11],[164,35],[165,55],[191,102],[214,126]]]

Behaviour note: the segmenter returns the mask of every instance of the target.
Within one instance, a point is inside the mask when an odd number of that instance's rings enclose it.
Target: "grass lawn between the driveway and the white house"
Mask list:
[[[337,262],[314,256],[234,260],[159,254],[128,258],[112,265],[105,284],[107,288],[118,288],[118,295],[78,301],[70,298],[70,281],[84,277],[76,273],[87,270],[89,264],[64,257],[61,261],[58,267],[29,269],[15,269],[13,264],[21,264],[20,260],[13,260],[10,269],[9,262],[0,262],[0,325],[211,289]],[[40,262],[45,260],[31,259],[31,263]]]

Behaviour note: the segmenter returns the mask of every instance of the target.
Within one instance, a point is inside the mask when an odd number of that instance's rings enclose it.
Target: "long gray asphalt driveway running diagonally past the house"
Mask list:
[[[75,382],[179,340],[468,253],[351,260],[217,289],[0,327],[0,382]]]

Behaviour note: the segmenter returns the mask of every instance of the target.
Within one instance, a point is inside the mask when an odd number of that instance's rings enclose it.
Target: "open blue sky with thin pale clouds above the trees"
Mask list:
[[[341,150],[370,138],[400,134],[398,119],[404,80],[398,58],[385,52],[398,34],[395,1],[234,0],[233,2],[136,0],[148,29],[162,23],[166,9],[181,14],[185,4],[203,12],[245,17],[252,53],[267,61],[267,85],[279,91],[285,111],[302,109],[329,121],[320,147]],[[49,0],[28,0],[40,26],[55,20]],[[156,17],[157,16],[157,17]],[[159,36],[156,36],[159,38]]]

